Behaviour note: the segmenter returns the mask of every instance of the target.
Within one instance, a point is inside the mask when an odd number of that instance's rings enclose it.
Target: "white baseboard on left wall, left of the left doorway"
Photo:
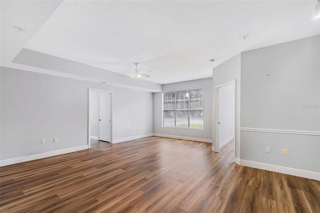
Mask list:
[[[39,154],[32,154],[32,155],[27,155],[27,156],[22,156],[22,157],[17,157],[17,158],[11,158],[7,160],[2,160],[0,161],[0,166],[7,166],[15,163],[21,163],[21,162],[26,162],[26,161],[33,161],[41,158],[46,158],[46,157],[51,157],[59,154],[66,154],[70,152],[76,152],[80,150],[88,149],[88,145],[84,146],[76,146],[72,148],[67,148],[67,149],[60,149],[56,151],[51,151],[51,152],[45,152],[45,153],[39,153]]]

